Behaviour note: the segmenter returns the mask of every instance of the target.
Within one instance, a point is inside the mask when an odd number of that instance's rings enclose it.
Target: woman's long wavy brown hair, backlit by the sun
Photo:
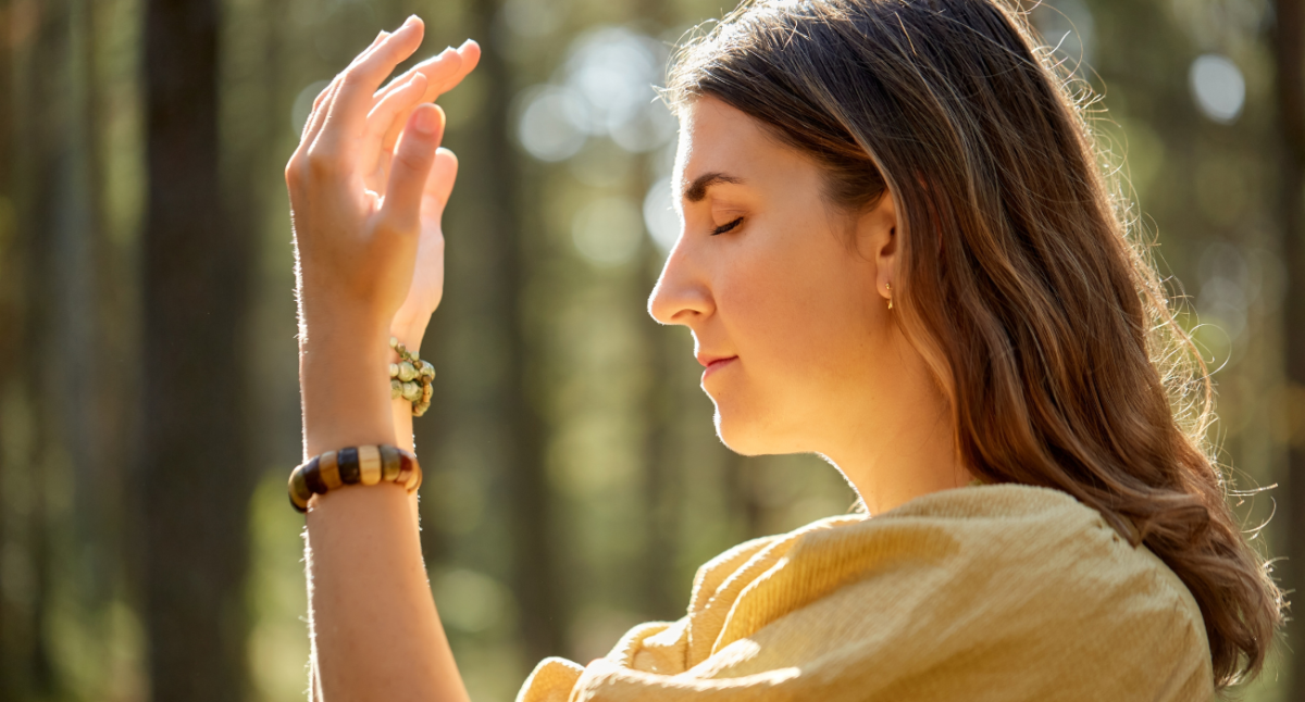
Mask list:
[[[1282,594],[1225,501],[1211,386],[1067,78],[996,0],[758,0],[685,43],[673,106],[711,95],[894,197],[894,312],[992,483],[1061,489],[1191,591],[1215,684],[1255,675]]]

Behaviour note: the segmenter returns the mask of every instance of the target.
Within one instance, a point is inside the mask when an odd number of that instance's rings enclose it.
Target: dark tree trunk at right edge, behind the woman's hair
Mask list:
[[[1278,77],[1279,120],[1285,149],[1282,159],[1282,261],[1287,292],[1283,298],[1283,339],[1288,395],[1305,394],[1305,4],[1301,0],[1275,3],[1276,26],[1274,56]],[[1287,407],[1300,412],[1300,407]],[[1300,421],[1300,418],[1296,418]],[[1283,587],[1288,592],[1305,592],[1305,436],[1295,427],[1288,446],[1284,515],[1285,569]],[[1291,649],[1285,663],[1289,689],[1285,699],[1305,699],[1305,625],[1300,613],[1288,622]]]

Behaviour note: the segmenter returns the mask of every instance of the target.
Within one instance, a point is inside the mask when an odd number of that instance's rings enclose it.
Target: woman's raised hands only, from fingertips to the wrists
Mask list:
[[[422,34],[415,17],[382,31],[317,97],[287,164],[307,326],[322,304],[361,304],[415,343],[440,303],[440,218],[457,159],[435,149],[444,115],[428,103],[462,81],[480,50],[471,40],[450,47],[377,90]]]

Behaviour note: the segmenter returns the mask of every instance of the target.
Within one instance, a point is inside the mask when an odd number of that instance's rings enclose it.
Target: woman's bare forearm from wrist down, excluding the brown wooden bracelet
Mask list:
[[[389,333],[375,326],[359,324],[350,335],[322,331],[301,351],[312,455],[359,444],[411,448],[411,406],[389,398]],[[415,497],[395,484],[312,498],[305,560],[315,697],[466,699],[416,525]]]

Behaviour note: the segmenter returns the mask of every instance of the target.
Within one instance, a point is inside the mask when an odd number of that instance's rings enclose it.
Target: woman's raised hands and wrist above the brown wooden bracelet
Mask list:
[[[440,301],[440,215],[457,160],[438,149],[444,112],[429,100],[466,76],[479,47],[441,52],[381,89],[422,34],[411,17],[354,59],[318,95],[286,166],[309,450],[393,440],[386,341],[420,337]]]

